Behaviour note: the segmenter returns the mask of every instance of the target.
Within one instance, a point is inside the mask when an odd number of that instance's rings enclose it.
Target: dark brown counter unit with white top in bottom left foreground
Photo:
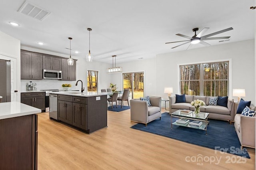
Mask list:
[[[37,169],[37,115],[19,102],[0,103],[0,169]]]

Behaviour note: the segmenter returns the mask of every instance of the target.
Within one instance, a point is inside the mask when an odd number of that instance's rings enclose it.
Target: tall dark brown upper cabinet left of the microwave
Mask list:
[[[20,78],[43,79],[43,56],[36,53],[20,52]]]

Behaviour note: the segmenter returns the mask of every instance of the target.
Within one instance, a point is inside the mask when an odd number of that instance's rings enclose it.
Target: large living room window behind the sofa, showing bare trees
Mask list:
[[[229,62],[180,65],[180,93],[228,96]]]

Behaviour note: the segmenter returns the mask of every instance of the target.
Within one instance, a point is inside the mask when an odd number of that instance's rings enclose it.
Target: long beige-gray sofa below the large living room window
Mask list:
[[[176,103],[176,96],[170,96],[170,113],[173,113],[179,109],[187,109],[194,111],[195,107],[190,103],[196,99],[202,100],[206,103],[205,106],[200,107],[200,112],[210,113],[208,118],[211,119],[221,119],[227,121],[234,121],[234,100],[228,99],[228,106],[212,106],[209,105],[210,96],[195,96],[195,95],[185,95],[186,103]],[[231,123],[231,122],[230,122]]]

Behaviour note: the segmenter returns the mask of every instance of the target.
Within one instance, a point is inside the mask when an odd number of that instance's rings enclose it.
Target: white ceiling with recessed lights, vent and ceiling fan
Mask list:
[[[254,39],[254,0],[29,0],[51,12],[43,21],[19,13],[25,0],[0,1],[0,31],[21,41],[21,45],[69,55],[68,37],[72,37],[72,56],[84,57],[89,50],[95,61],[116,63],[152,58],[156,54],[186,50],[188,45],[171,49],[192,37],[193,28],[209,27],[210,34],[231,36],[230,41],[208,40],[211,45]],[[11,26],[9,22],[20,24]],[[215,36],[216,37],[216,36]],[[38,45],[37,42],[44,42]],[[189,49],[204,47],[195,44]],[[74,51],[79,51],[78,54]]]

